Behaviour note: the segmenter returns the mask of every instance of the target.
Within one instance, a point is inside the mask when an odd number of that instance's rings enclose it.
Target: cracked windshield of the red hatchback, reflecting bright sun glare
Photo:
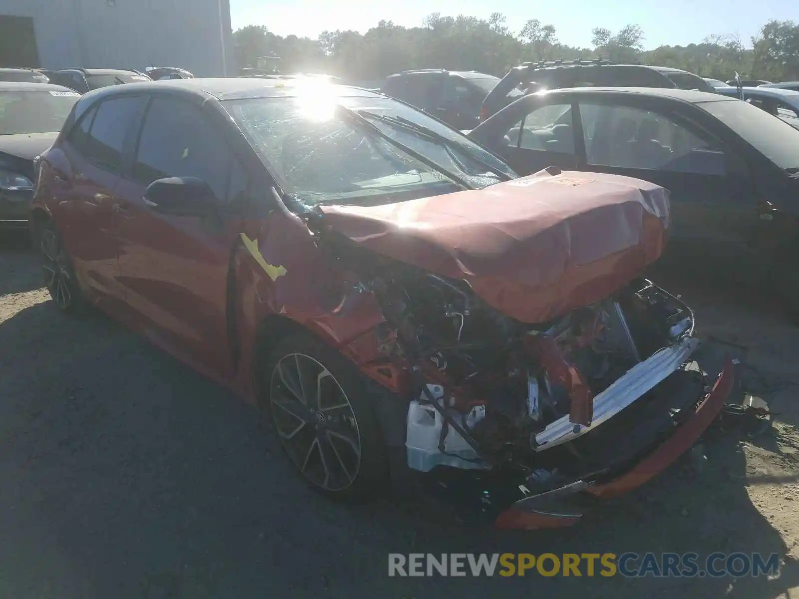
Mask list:
[[[304,204],[387,203],[404,192],[435,195],[515,177],[461,133],[390,98],[314,93],[224,105],[284,191]],[[346,118],[339,105],[362,111],[373,126]]]

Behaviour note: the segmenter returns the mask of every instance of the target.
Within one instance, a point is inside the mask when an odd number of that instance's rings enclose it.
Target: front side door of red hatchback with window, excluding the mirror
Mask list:
[[[165,177],[205,180],[218,209],[204,216],[158,212],[144,197],[149,184]],[[227,277],[247,188],[220,126],[189,101],[153,97],[117,194],[125,300],[150,339],[221,379],[233,370]]]

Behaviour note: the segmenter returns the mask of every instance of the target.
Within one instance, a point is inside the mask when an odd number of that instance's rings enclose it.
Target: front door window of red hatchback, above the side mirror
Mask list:
[[[226,199],[231,154],[201,110],[156,97],[141,129],[133,177],[149,185],[165,177],[198,177]]]

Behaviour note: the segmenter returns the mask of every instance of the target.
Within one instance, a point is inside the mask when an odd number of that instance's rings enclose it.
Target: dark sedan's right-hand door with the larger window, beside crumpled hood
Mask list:
[[[749,258],[757,194],[746,161],[699,125],[692,105],[646,97],[579,101],[580,168],[648,180],[670,190],[670,239],[693,256]]]

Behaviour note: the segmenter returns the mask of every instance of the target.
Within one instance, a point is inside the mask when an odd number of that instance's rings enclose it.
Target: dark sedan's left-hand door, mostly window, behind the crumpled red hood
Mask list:
[[[520,175],[578,164],[574,104],[562,94],[530,95],[480,125],[470,136],[499,153]]]

